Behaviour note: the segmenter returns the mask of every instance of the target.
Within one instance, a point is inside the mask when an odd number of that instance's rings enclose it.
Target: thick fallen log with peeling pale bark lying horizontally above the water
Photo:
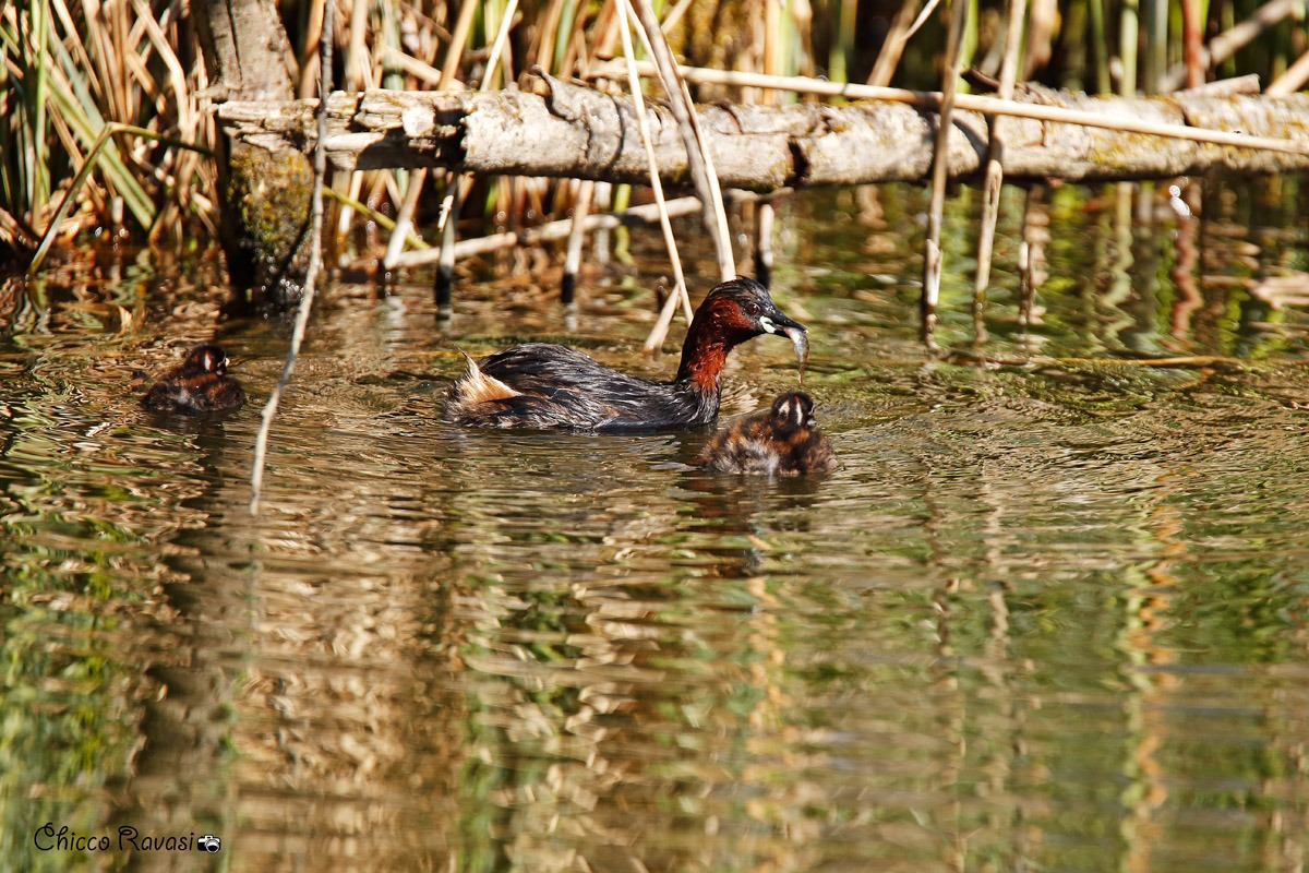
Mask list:
[[[978,99],[978,98],[974,98]],[[1127,181],[1200,174],[1309,170],[1309,96],[1247,94],[1089,97],[1026,90],[1018,103],[1034,114],[1077,110],[1105,127],[1013,118],[1007,126],[1004,173],[1011,181]],[[315,101],[230,101],[219,122],[233,148],[306,153],[314,143]],[[899,103],[709,105],[696,111],[724,187],[847,186],[920,181],[932,164],[936,114]],[[648,182],[632,105],[600,90],[548,80],[548,93],[336,93],[329,102],[327,157],[342,170],[441,166],[476,174]],[[649,106],[660,177],[690,181],[686,151],[672,114]],[[1206,128],[1285,140],[1285,151],[1217,145],[1115,130],[1131,122]],[[1203,135],[1203,134],[1200,134]],[[986,116],[954,113],[946,171],[980,178],[987,156]]]

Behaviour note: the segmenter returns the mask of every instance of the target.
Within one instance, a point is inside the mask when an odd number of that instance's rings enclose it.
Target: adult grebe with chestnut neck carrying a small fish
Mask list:
[[[695,312],[672,382],[619,373],[564,346],[528,343],[469,359],[469,370],[450,386],[444,419],[572,431],[709,424],[719,415],[728,352],[759,334],[785,334],[800,348],[805,327],[783,315],[754,279],[733,279],[715,287]]]

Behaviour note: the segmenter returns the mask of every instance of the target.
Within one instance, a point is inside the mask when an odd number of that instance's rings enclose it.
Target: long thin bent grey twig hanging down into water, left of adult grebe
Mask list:
[[[272,431],[272,419],[278,415],[278,406],[281,403],[281,393],[291,382],[291,372],[296,366],[300,344],[305,339],[305,329],[309,326],[309,313],[314,305],[318,270],[322,266],[323,178],[327,175],[327,98],[331,96],[332,10],[335,5],[335,3],[329,0],[323,7],[323,29],[318,46],[318,139],[314,143],[314,188],[310,207],[313,228],[309,233],[309,266],[305,272],[305,287],[300,296],[300,306],[296,310],[296,326],[291,332],[291,349],[287,352],[287,363],[281,366],[281,378],[278,380],[276,387],[272,389],[272,395],[263,406],[263,420],[259,423],[259,433],[255,437],[254,471],[250,474],[251,516],[259,514],[263,469],[268,457],[268,433]]]

